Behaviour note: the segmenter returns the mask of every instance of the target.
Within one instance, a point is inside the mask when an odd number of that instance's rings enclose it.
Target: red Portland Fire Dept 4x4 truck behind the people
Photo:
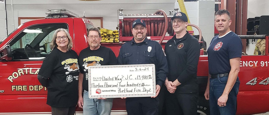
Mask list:
[[[116,56],[122,44],[132,39],[131,27],[128,24],[134,19],[146,20],[147,28],[151,30],[147,32],[147,36],[160,41],[163,47],[166,40],[174,35],[171,29],[172,15],[166,15],[162,11],[157,11],[156,15],[123,15],[121,11],[119,13],[121,42],[101,44],[110,47]],[[37,74],[44,58],[50,53],[48,46],[56,29],[68,30],[73,39],[72,49],[77,54],[88,47],[86,32],[93,27],[89,19],[77,18],[75,13],[65,9],[48,10],[47,13],[49,15],[44,19],[23,23],[0,42],[0,114],[51,114],[51,107],[46,104],[47,89],[38,82]],[[165,36],[166,32],[169,35]],[[240,38],[266,39],[266,55],[242,55],[237,114],[267,112],[269,111],[268,36],[240,36]],[[207,55],[203,55],[203,50],[201,51],[197,71],[199,82],[197,113],[209,115],[209,103],[203,96],[207,84],[208,59]],[[82,111],[77,107],[76,114],[82,114]],[[111,114],[127,114],[124,99],[114,99]]]

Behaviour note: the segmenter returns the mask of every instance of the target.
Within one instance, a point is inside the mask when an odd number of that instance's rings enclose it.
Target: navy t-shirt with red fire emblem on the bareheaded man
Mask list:
[[[208,53],[209,74],[224,74],[231,71],[230,59],[241,57],[242,41],[232,31],[213,37]]]

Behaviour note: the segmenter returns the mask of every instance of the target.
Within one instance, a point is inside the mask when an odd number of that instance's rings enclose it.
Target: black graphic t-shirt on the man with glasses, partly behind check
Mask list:
[[[87,47],[79,54],[80,73],[83,73],[83,89],[89,90],[88,67],[100,65],[118,65],[118,60],[114,52],[107,47],[100,46],[97,50],[91,50]]]

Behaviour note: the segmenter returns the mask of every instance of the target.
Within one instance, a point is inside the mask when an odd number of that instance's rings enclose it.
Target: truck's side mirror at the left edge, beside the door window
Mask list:
[[[9,45],[0,50],[0,61],[9,61],[12,60],[11,48]]]

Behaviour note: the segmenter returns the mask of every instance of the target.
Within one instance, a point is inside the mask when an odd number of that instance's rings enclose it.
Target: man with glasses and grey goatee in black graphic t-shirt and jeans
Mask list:
[[[110,115],[113,98],[89,98],[88,67],[118,65],[118,61],[110,48],[100,46],[101,33],[98,28],[93,27],[88,30],[87,41],[89,47],[83,49],[79,54],[79,100],[77,104],[83,108],[84,115]]]

